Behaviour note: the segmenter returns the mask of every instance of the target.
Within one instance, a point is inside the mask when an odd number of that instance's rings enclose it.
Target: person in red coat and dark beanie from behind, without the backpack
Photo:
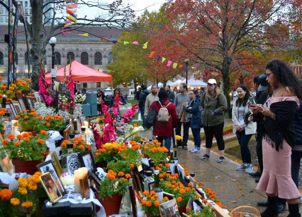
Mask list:
[[[153,135],[157,136],[157,140],[161,144],[162,144],[163,140],[165,140],[165,147],[169,150],[169,153],[170,153],[171,139],[172,139],[172,127],[176,127],[176,125],[177,125],[176,108],[175,108],[175,105],[173,103],[170,103],[170,101],[167,99],[168,93],[165,91],[165,89],[159,91],[158,97],[159,97],[159,100],[154,101],[151,104],[150,108],[154,108],[154,105],[156,106],[155,108],[156,108],[156,116],[157,116],[159,109],[162,106],[166,106],[170,117],[169,117],[169,121],[166,121],[166,122],[157,121],[157,117],[155,118],[155,121],[153,124]],[[150,109],[149,109],[149,111],[150,111]]]

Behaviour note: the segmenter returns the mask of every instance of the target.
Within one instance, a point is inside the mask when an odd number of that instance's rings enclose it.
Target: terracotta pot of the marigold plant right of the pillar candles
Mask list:
[[[123,195],[112,195],[112,198],[109,196],[105,196],[104,200],[102,200],[99,199],[98,192],[95,192],[95,197],[104,206],[106,216],[120,213],[120,204],[122,202]]]

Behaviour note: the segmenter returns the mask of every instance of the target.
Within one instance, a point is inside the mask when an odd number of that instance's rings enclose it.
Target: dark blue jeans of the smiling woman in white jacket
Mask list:
[[[252,137],[252,134],[246,135],[245,130],[239,132],[236,132],[237,140],[240,145],[240,152],[241,152],[241,158],[242,162],[245,164],[251,164],[251,152],[249,150],[249,140]]]

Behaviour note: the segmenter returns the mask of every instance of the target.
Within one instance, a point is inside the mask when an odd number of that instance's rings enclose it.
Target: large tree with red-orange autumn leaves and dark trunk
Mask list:
[[[221,73],[223,93],[227,96],[231,74],[256,74],[268,60],[259,56],[292,46],[290,36],[294,29],[289,28],[286,12],[291,3],[169,0],[165,26],[150,38],[151,49],[154,46],[158,53],[171,56],[175,62],[189,59],[189,64],[198,66],[198,70]]]

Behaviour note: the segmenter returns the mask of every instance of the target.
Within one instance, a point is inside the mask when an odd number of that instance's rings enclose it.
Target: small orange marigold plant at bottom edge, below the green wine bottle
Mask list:
[[[151,191],[150,193],[149,191],[144,191],[143,196],[140,202],[142,204],[142,210],[147,217],[160,217],[159,204],[168,201],[168,197],[164,197],[159,201],[155,191]]]

